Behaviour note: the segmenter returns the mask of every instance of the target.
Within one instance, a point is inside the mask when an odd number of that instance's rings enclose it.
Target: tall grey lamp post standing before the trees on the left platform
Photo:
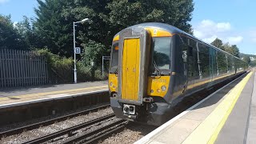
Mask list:
[[[77,62],[76,62],[76,51],[75,51],[75,30],[74,30],[74,26],[75,24],[77,23],[83,23],[83,22],[86,22],[86,21],[89,21],[89,18],[84,18],[82,19],[82,21],[78,21],[78,22],[73,22],[73,36],[74,36],[74,83],[77,83],[78,82],[78,72],[77,72]]]

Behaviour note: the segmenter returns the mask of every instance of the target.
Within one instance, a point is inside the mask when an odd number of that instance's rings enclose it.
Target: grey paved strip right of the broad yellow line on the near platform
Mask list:
[[[215,143],[244,143],[246,142],[246,131],[250,116],[250,99],[253,93],[254,74],[246,83],[242,94],[238,98],[234,109],[227,118],[225,125],[218,134]]]

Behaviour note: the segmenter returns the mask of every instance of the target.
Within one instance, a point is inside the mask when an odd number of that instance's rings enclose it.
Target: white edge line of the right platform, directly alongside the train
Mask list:
[[[244,74],[242,74],[238,78],[241,78],[243,75]],[[234,79],[232,82],[236,81],[238,78]],[[226,84],[226,86],[229,86],[232,82]],[[157,129],[151,131],[150,134],[146,134],[146,136],[139,139],[137,142],[134,142],[134,144],[142,144],[142,143],[149,142],[150,138],[153,138],[155,134],[158,134],[160,131],[164,130],[167,126],[170,126],[171,123],[175,122],[176,120],[178,120],[178,118],[181,118],[182,116],[190,112],[190,110],[193,110],[196,106],[200,105],[202,102],[205,102],[207,99],[212,97],[214,94],[218,93],[220,90],[224,89],[226,86],[223,86],[221,89],[216,90],[213,94],[210,94],[208,97],[202,99],[200,102],[196,103],[194,106],[191,106],[187,110],[183,111],[181,114],[178,114],[176,117],[170,119],[170,121],[164,123],[162,126],[159,126]]]

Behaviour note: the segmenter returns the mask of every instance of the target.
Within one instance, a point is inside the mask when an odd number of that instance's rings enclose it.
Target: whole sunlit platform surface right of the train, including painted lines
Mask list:
[[[134,143],[256,143],[255,86],[251,70]]]

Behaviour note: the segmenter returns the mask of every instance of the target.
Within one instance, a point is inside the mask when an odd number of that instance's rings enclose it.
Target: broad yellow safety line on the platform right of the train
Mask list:
[[[251,75],[252,72],[250,72],[246,78],[243,78],[237,86],[234,86],[234,88],[226,94],[226,98],[182,143],[214,143]]]

